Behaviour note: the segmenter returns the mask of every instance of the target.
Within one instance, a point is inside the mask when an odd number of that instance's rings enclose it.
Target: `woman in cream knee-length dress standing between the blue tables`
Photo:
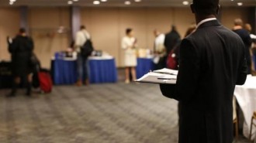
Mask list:
[[[126,29],[126,36],[122,39],[122,48],[124,52],[124,66],[126,66],[126,80],[125,83],[130,83],[130,72],[132,79],[135,81],[136,66],[137,66],[137,39],[133,36],[133,29]]]

